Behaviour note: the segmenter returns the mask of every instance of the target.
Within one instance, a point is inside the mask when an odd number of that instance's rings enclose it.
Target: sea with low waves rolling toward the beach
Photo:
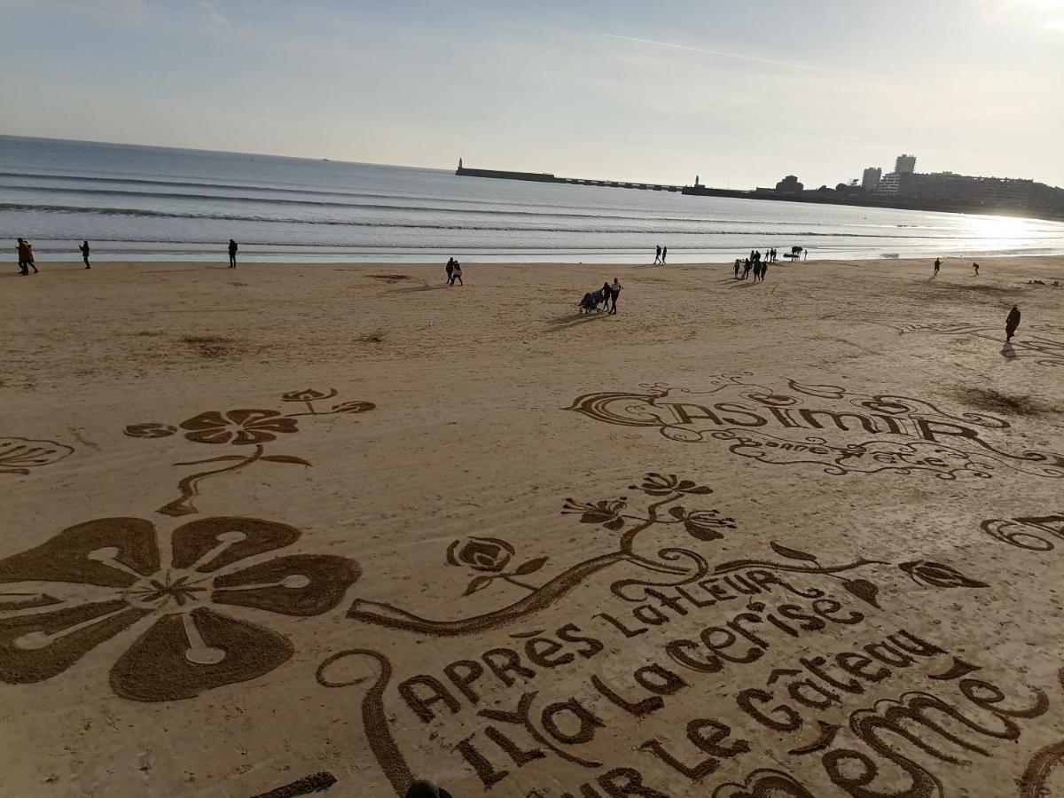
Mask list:
[[[45,261],[77,260],[83,238],[100,261],[225,261],[229,238],[266,263],[649,263],[659,244],[670,263],[792,246],[829,259],[1064,253],[1064,223],[1037,219],[0,136],[12,255],[16,236]]]

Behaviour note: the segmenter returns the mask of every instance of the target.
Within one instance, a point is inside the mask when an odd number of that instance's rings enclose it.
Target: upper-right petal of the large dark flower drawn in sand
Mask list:
[[[173,567],[217,570],[245,558],[290,546],[299,530],[257,518],[203,518],[173,530]]]

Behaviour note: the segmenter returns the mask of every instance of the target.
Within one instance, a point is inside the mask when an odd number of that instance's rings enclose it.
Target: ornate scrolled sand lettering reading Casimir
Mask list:
[[[745,377],[721,377],[702,392],[651,385],[644,393],[588,394],[568,410],[605,423],[656,429],[679,443],[722,440],[733,454],[760,463],[812,465],[835,476],[925,471],[953,480],[990,478],[1007,468],[1064,477],[1064,454],[1004,446],[999,438],[1011,425],[1003,418],[794,380],[784,392]]]

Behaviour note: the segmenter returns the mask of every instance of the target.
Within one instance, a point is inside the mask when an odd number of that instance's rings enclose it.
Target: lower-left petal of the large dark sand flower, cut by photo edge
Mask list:
[[[149,610],[121,599],[0,620],[0,680],[39,682],[62,674]]]

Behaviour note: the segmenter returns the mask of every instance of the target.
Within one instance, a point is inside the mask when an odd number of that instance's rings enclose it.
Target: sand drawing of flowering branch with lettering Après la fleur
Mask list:
[[[745,783],[721,780],[713,787],[710,777],[724,766],[748,760],[754,764],[758,748],[749,735],[755,732],[785,739],[785,753],[778,757],[817,758],[833,783],[853,788],[850,795],[867,798],[872,793],[860,792],[860,785],[892,779],[900,767],[919,787],[912,795],[932,796],[920,791],[940,784],[938,777],[895,750],[894,737],[904,735],[909,725],[931,724],[941,737],[921,741],[927,743],[924,750],[952,763],[949,744],[983,751],[980,735],[1015,739],[1019,730],[1009,718],[1046,711],[1045,696],[1037,692],[1020,709],[1002,706],[1003,692],[968,679],[978,666],[904,628],[884,636],[881,618],[867,624],[869,614],[883,609],[871,571],[883,571],[890,563],[859,559],[825,564],[815,552],[771,542],[767,558],[711,565],[706,549],[736,534],[738,523],[718,510],[686,506],[704,501],[712,493],[708,486],[651,472],[629,491],[638,491],[642,500],[566,500],[564,515],[613,533],[617,550],[553,576],[553,560],[519,556],[517,547],[502,538],[453,541],[442,552],[449,566],[468,571],[455,580],[455,596],[446,603],[461,606],[473,594],[480,602],[488,596],[504,600],[514,592],[525,594],[513,603],[439,620],[364,599],[352,604],[348,617],[408,633],[505,635],[451,660],[427,661],[422,672],[397,684],[389,658],[368,648],[338,651],[320,664],[317,681],[323,687],[364,691],[366,738],[397,795],[403,795],[418,770],[408,761],[396,730],[408,737],[420,725],[430,739],[447,739],[440,755],[449,752],[476,774],[485,791],[542,763],[535,771],[539,776],[525,777],[522,792],[548,794],[527,788],[530,778],[541,777],[556,791],[559,768],[575,766],[587,775],[578,777],[580,782],[570,780],[563,795],[665,796],[652,776],[661,777],[662,770],[674,780],[679,774],[693,783],[704,782],[701,792],[718,798],[824,795],[779,768],[754,769]],[[669,546],[677,538],[691,541],[691,548]],[[543,611],[556,608],[608,567],[631,575],[610,583],[605,601],[594,602],[593,614],[564,624],[542,619]],[[892,570],[896,585],[904,584],[898,579],[904,577],[917,589],[988,586],[952,565],[929,560],[902,562],[886,572]],[[862,632],[860,644],[847,642]],[[634,670],[624,664],[633,639],[639,644]],[[763,658],[777,662],[768,669]],[[551,694],[554,674],[566,675],[558,682],[566,685],[563,694]],[[899,692],[893,685],[899,678],[927,679],[930,687]],[[706,702],[714,681],[719,698]],[[942,695],[945,682],[957,682],[976,709]],[[849,708],[853,702],[857,709]],[[845,716],[836,718],[844,711],[850,715],[849,733],[843,731]],[[986,712],[997,718],[996,726],[986,725]],[[669,719],[658,728],[676,733],[647,739],[637,721],[659,713]],[[943,713],[951,725],[961,725],[960,731],[934,725]],[[448,736],[452,722],[461,731]],[[617,735],[628,734],[636,736],[618,744]],[[634,754],[626,754],[624,765],[611,766],[609,759],[621,749]],[[438,761],[434,765],[440,767]]]

